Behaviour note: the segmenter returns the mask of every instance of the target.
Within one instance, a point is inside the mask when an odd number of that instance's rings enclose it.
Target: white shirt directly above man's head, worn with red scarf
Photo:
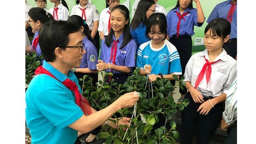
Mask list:
[[[53,15],[54,7],[55,7],[55,5],[49,10],[49,13],[51,13],[52,15]],[[68,9],[62,3],[60,3],[57,7],[59,8],[57,10],[58,20],[66,21],[69,17]],[[55,20],[57,20],[57,19],[55,19]]]

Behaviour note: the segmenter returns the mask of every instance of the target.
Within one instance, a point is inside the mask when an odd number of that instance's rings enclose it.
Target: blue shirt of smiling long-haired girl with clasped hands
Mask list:
[[[135,67],[135,59],[136,59],[136,48],[137,44],[132,39],[124,48],[119,49],[123,43],[124,34],[122,34],[117,42],[117,51],[116,51],[116,57],[115,57],[115,65],[122,65],[127,67]],[[115,35],[113,35],[113,39],[115,39]],[[101,54],[100,54],[100,60],[106,62],[106,63],[113,63],[113,59],[110,61],[110,55],[111,55],[111,48],[114,42],[110,44],[110,47],[107,47],[105,44],[105,39],[102,40],[102,48],[101,48]],[[106,70],[107,72],[110,72],[111,70]],[[132,71],[132,70],[131,70]],[[113,74],[124,74],[119,71],[112,71]]]

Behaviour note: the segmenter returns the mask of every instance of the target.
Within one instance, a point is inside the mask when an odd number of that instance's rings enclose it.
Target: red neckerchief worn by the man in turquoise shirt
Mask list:
[[[51,74],[48,70],[44,69],[43,66],[39,66],[35,70],[35,75],[37,74],[47,74],[54,79],[57,79],[53,74]],[[57,79],[58,80],[58,79]],[[78,105],[84,112],[85,115],[92,114],[91,106],[88,100],[79,92],[77,85],[75,82],[72,82],[70,79],[66,79],[62,82],[64,86],[66,86],[69,90],[75,93],[75,104]]]

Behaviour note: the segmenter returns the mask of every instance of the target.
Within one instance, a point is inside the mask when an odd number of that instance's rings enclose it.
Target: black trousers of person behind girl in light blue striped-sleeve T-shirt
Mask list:
[[[190,60],[190,57],[192,55],[192,39],[190,35],[186,35],[186,36],[179,36],[177,37],[172,37],[169,39],[169,42],[172,43],[176,48],[177,51],[179,52],[180,55],[180,59],[181,59],[181,70],[182,70],[182,75],[184,75],[185,73],[185,67],[188,63],[188,61]],[[171,82],[172,85],[175,82]],[[181,83],[180,83],[181,84]],[[184,89],[182,90],[180,88],[179,92],[183,95],[185,95],[187,93],[187,89],[186,87],[184,87]]]

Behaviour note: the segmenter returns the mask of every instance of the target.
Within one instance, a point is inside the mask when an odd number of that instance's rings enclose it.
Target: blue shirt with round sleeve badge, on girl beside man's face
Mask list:
[[[97,48],[87,38],[87,36],[84,37],[82,43],[84,43],[84,49],[86,53],[83,55],[82,62],[80,63],[80,68],[89,68],[89,70],[97,70]]]

